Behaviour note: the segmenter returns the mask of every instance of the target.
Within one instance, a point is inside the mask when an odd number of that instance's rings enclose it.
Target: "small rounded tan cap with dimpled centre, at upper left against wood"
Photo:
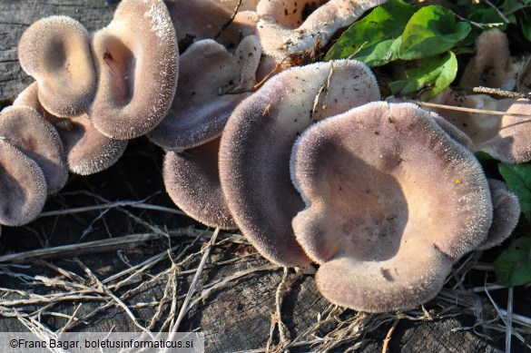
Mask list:
[[[65,117],[88,110],[96,75],[88,32],[79,22],[50,16],[30,25],[18,44],[18,59],[37,80],[48,112]]]

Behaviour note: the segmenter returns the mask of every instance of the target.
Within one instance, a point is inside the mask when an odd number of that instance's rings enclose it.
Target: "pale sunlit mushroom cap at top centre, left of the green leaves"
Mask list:
[[[261,1],[257,6],[258,34],[265,54],[280,61],[304,52],[320,40],[329,42],[339,28],[387,0]]]

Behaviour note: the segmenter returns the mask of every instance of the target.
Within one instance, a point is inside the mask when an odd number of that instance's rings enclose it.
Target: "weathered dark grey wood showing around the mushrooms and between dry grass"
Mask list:
[[[192,0],[191,0],[192,1]],[[32,82],[20,69],[16,58],[16,45],[25,30],[35,20],[47,15],[69,15],[82,22],[89,31],[97,30],[108,24],[113,15],[113,6],[106,5],[104,0],[0,0],[0,102],[14,99],[25,86]],[[107,200],[143,200],[151,198],[152,202],[172,206],[172,202],[163,192],[162,178],[160,174],[161,152],[154,149],[147,141],[133,142],[121,162],[110,170],[99,175],[84,178],[73,178],[64,194],[51,198],[48,205],[51,208],[79,206],[78,202],[97,202],[92,197],[76,196],[69,198],[68,192],[92,191],[98,196]],[[146,152],[147,151],[147,152]],[[143,161],[143,159],[145,161]],[[145,162],[148,167],[139,168],[141,162]],[[144,165],[145,165],[144,164]],[[153,198],[156,192],[160,194]],[[85,203],[86,204],[86,203]],[[51,205],[51,206],[50,206]],[[137,221],[131,214],[124,214],[121,211],[110,211],[105,215],[108,221],[100,221],[99,211],[87,212],[83,215],[66,215],[57,219],[40,219],[27,228],[10,229],[5,228],[2,235],[2,252],[12,252],[21,250],[32,250],[40,246],[40,242],[28,230],[33,230],[40,234],[49,246],[59,246],[75,243],[80,240],[80,235],[88,232],[85,240],[101,240],[111,236],[121,236],[132,234],[139,227]],[[135,217],[154,224],[161,229],[169,229],[194,224],[191,220],[176,215],[160,215],[156,211],[136,211]],[[94,225],[95,224],[95,225]],[[82,240],[82,241],[85,241]],[[84,254],[79,256],[94,273],[105,279],[120,270],[126,270],[130,264],[141,263],[143,260],[164,253],[168,248],[168,243],[172,246],[186,246],[190,240],[153,240],[152,243],[134,249],[123,249],[123,251]],[[261,268],[268,265],[266,260],[260,256],[241,257],[245,253],[241,245],[220,245],[216,246],[211,254],[211,260],[202,272],[199,288],[207,286],[209,283],[233,276],[238,271]],[[199,251],[199,246],[191,248],[190,253]],[[173,251],[173,256],[178,250]],[[120,256],[123,257],[123,259]],[[199,260],[199,259],[198,259]],[[231,263],[221,265],[221,261],[231,260]],[[84,279],[83,284],[90,286],[90,280],[86,278],[84,271],[80,269],[71,258],[63,260],[55,259],[46,265],[47,262],[26,262],[28,269],[0,268],[0,287],[7,289],[24,289],[37,294],[50,294],[60,291],[60,287],[49,287],[45,283],[28,283],[21,277],[14,277],[9,271],[23,273],[25,276],[47,276],[50,279],[68,279],[64,275],[54,270],[60,267],[75,273]],[[186,271],[186,275],[177,277],[176,295],[183,296],[187,293],[190,281],[193,276],[193,269],[196,262],[191,262],[179,270]],[[157,307],[149,303],[156,302],[164,298],[167,283],[174,274],[170,273],[154,281],[162,271],[170,269],[172,262],[168,259],[157,263],[151,270],[146,271],[137,281],[136,285],[146,282],[145,288],[139,289],[130,296],[124,297],[124,302],[131,308],[140,323],[148,325],[157,315]],[[7,269],[7,270],[2,270]],[[75,279],[75,277],[74,277]],[[270,338],[270,323],[275,313],[275,292],[282,279],[282,270],[260,270],[251,272],[241,279],[236,279],[220,289],[212,290],[204,299],[199,301],[192,310],[185,316],[181,325],[181,330],[199,329],[205,332],[206,348],[209,352],[231,352],[245,349],[265,348],[268,338]],[[300,275],[290,273],[290,291],[286,293],[281,309],[281,318],[288,329],[289,338],[298,337],[301,333],[310,328],[317,320],[320,313],[329,307],[329,302],[323,299],[317,291],[315,281],[311,275]],[[109,285],[115,284],[117,280],[111,281]],[[122,288],[113,289],[114,293],[122,296],[127,290],[133,289],[133,284],[128,284]],[[201,294],[201,292],[200,292]],[[83,318],[93,310],[98,309],[104,300],[97,298],[97,293],[92,293],[93,299],[66,300],[56,305],[46,308],[47,313],[40,313],[41,321],[51,329],[58,329],[64,326],[67,318],[56,316],[51,312],[72,315],[77,309],[76,316]],[[196,294],[192,300],[197,298]],[[10,292],[0,300],[0,330],[18,331],[26,328],[21,324],[20,319],[7,317],[2,309],[9,300],[24,299],[23,295]],[[179,301],[176,309],[180,308]],[[81,304],[81,307],[78,306]],[[15,305],[21,315],[36,315],[39,309],[44,308],[43,303],[32,306]],[[12,308],[9,307],[9,308]],[[161,329],[162,323],[171,314],[172,301],[169,300],[162,305],[161,317],[155,320],[153,329]],[[356,313],[347,311],[342,315],[342,319],[354,317]],[[116,303],[111,303],[108,308],[98,312],[94,316],[85,319],[86,322],[79,322],[70,327],[71,330],[115,331],[138,330],[132,320],[124,313]],[[474,335],[470,331],[454,330],[459,328],[460,322],[457,319],[441,319],[436,321],[408,321],[403,319],[399,322],[397,329],[393,333],[389,348],[391,352],[495,352],[484,338]],[[365,352],[379,352],[383,347],[390,323],[382,325],[380,328],[360,337],[357,342],[365,340],[365,344],[360,350]],[[330,329],[330,328],[328,328]],[[326,333],[327,328],[323,328]],[[321,333],[323,333],[321,332]],[[278,342],[278,334],[275,335],[275,343]],[[351,342],[339,350],[352,346]],[[301,348],[308,350],[309,347]],[[297,351],[297,348],[291,349]]]

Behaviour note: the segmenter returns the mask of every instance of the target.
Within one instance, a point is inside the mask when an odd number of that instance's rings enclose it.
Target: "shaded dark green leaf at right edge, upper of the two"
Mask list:
[[[531,222],[531,165],[499,163],[497,169],[506,181],[507,188],[520,201],[527,221]]]

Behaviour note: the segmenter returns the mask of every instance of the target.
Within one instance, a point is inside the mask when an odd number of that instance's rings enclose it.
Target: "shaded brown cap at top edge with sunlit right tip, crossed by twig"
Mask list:
[[[234,8],[229,10],[216,1],[166,0],[165,3],[172,15],[180,48],[184,44],[191,44],[191,40],[214,39],[221,33],[220,43],[233,49],[241,38],[256,34],[258,17],[254,12],[239,12],[231,21]],[[231,25],[223,29],[229,21]]]

